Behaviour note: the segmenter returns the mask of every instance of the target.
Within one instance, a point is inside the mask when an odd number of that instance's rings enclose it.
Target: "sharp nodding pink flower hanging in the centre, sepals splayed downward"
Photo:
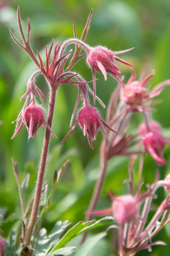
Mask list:
[[[105,128],[103,127],[103,124],[110,130],[112,130],[114,133],[117,133],[115,130],[113,130],[110,126],[105,123],[105,121],[101,118],[100,114],[96,110],[95,107],[85,105],[81,108],[81,110],[78,113],[78,118],[76,122],[74,123],[74,126],[69,131],[67,136],[63,139],[62,143],[65,142],[65,140],[69,137],[69,135],[72,134],[77,124],[80,124],[81,128],[83,129],[84,136],[87,133],[87,138],[89,142],[89,146],[91,149],[93,149],[92,146],[92,140],[96,140],[98,128],[101,127],[103,130],[104,135],[108,138],[107,133],[105,131]],[[119,133],[117,133],[119,134]]]

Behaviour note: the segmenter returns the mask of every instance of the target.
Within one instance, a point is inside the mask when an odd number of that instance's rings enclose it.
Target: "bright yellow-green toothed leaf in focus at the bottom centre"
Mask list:
[[[76,225],[74,225],[67,233],[63,236],[63,238],[60,239],[60,241],[57,243],[57,245],[50,251],[50,254],[57,249],[60,249],[64,245],[67,244],[70,240],[72,240],[82,229],[84,229],[86,226],[91,224],[94,221],[90,222],[78,222]],[[49,254],[49,255],[50,255]]]

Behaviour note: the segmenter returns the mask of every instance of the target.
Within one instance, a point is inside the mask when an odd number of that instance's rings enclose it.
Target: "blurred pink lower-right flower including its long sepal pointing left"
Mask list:
[[[112,192],[108,192],[110,198],[113,200],[112,207],[95,210],[92,213],[87,212],[86,214],[105,216],[112,214],[114,219],[119,224],[130,222],[136,218],[139,212],[140,200],[133,197],[131,194],[116,197]]]

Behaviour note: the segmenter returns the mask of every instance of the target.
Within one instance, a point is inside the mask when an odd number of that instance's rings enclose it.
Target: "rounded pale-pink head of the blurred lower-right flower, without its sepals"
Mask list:
[[[112,203],[112,211],[116,222],[124,224],[136,217],[139,203],[130,194],[116,197]]]

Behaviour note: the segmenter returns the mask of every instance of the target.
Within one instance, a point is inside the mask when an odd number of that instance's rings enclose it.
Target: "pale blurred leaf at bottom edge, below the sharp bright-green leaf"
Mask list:
[[[106,235],[107,234],[105,232],[102,232],[87,238],[86,242],[76,250],[74,256],[88,256],[94,246]]]

